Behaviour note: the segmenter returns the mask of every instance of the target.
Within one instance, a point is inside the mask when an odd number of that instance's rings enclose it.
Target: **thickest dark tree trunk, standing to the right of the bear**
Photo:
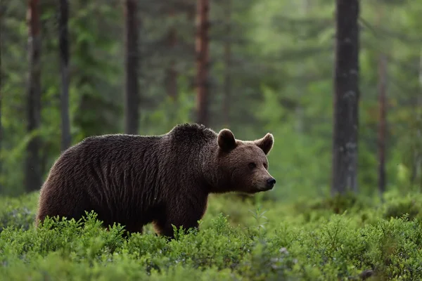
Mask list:
[[[337,0],[331,192],[357,192],[359,0]]]

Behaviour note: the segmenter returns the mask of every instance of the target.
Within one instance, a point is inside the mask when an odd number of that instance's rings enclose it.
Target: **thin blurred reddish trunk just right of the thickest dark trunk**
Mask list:
[[[387,91],[387,61],[382,53],[378,62],[378,103],[379,103],[379,124],[378,124],[378,190],[381,195],[385,192],[385,133],[387,130],[386,121],[386,91]]]

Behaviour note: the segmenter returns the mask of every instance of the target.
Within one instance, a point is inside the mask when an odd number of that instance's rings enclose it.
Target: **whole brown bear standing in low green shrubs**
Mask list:
[[[153,223],[158,235],[198,228],[210,193],[271,190],[267,154],[271,133],[236,140],[229,129],[215,133],[181,124],[161,136],[91,136],[65,150],[51,167],[39,196],[35,226],[46,216],[75,218],[95,211],[104,226],[120,223],[142,233]]]

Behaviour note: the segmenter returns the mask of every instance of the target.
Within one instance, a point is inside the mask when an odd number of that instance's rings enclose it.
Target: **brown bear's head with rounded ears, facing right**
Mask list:
[[[224,189],[253,194],[274,187],[276,180],[268,172],[267,159],[274,144],[271,133],[255,141],[240,141],[229,129],[222,129],[217,140]]]

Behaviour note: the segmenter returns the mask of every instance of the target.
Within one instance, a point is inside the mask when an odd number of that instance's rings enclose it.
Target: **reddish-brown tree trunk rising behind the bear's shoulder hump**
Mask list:
[[[208,0],[198,0],[196,11],[197,122],[209,126],[208,108]]]

